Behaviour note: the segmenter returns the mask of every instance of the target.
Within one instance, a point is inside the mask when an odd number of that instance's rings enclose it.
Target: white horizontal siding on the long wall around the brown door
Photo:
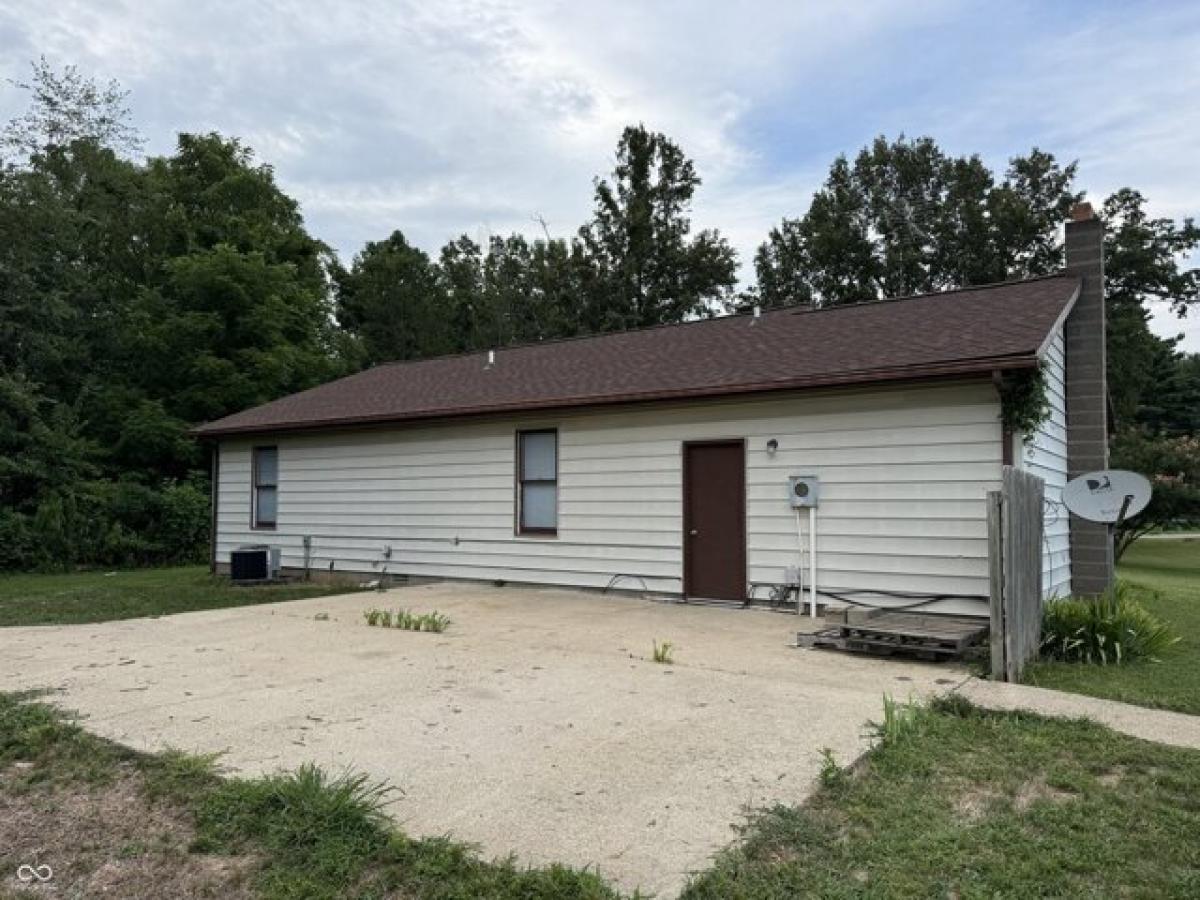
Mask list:
[[[822,479],[821,584],[986,595],[1000,480],[990,383],[625,407],[277,439],[284,566],[682,589],[685,440],[746,440],[748,580],[796,565],[787,475]],[[517,431],[558,430],[558,533],[514,534]],[[770,456],[767,440],[779,449]],[[221,449],[217,559],[246,528],[251,440]],[[392,548],[384,559],[384,546]],[[986,606],[984,605],[984,611]]]

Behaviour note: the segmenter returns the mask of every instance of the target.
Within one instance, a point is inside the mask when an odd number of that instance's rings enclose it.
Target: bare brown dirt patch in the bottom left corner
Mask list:
[[[0,773],[0,895],[119,896],[122,900],[250,898],[248,857],[190,853],[196,836],[186,812],[150,803],[142,776],[122,767],[100,785],[18,786],[23,773]],[[46,865],[44,882],[26,884],[20,865]]]

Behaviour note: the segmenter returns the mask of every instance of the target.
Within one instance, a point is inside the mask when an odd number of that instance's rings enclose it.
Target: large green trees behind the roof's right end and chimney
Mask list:
[[[876,138],[853,162],[834,161],[808,212],[772,229],[755,256],[754,301],[833,306],[1057,271],[1062,223],[1082,197],[1074,179],[1074,163],[1037,149],[997,178],[928,137]],[[1108,197],[1102,215],[1117,420],[1195,433],[1200,362],[1150,330],[1148,302],[1183,316],[1200,299],[1200,268],[1187,265],[1200,228],[1150,217],[1132,188]]]

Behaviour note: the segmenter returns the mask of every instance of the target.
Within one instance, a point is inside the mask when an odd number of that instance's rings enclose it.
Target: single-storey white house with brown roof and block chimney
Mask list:
[[[1105,463],[1103,228],[1062,274],[377,366],[197,433],[216,443],[214,568],[745,600],[802,564],[788,476],[820,479],[818,587],[986,614],[986,502],[1046,481],[1044,592],[1111,577],[1057,503]],[[1040,367],[1050,415],[1006,433],[998,384]],[[798,533],[799,526],[799,533]]]

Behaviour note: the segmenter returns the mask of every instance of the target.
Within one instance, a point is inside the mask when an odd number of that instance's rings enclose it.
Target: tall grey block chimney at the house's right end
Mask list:
[[[1070,478],[1108,468],[1108,380],[1104,347],[1104,223],[1090,203],[1067,222],[1067,272],[1080,278],[1067,317],[1067,469]],[[1099,594],[1112,583],[1108,526],[1070,517],[1070,581],[1076,594]]]

